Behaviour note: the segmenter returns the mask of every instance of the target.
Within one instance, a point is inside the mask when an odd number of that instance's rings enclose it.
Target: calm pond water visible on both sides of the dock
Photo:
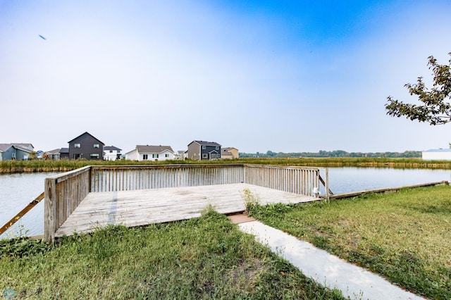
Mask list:
[[[451,170],[393,168],[329,168],[328,170],[329,185],[334,194],[443,180],[451,181]],[[44,178],[56,174],[0,175],[0,226],[3,226],[30,201],[44,192]],[[321,191],[321,194],[324,194],[324,190]],[[42,235],[44,232],[44,201],[32,208],[13,227],[0,235],[0,238],[18,235],[20,230],[27,230],[27,235]]]

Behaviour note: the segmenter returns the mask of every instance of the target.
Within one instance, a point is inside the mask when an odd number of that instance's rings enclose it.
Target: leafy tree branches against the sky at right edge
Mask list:
[[[451,56],[451,52],[449,53]],[[426,122],[430,125],[442,125],[451,122],[451,58],[449,65],[439,65],[433,56],[428,57],[429,69],[433,72],[433,87],[428,89],[424,85],[423,77],[418,77],[417,83],[407,83],[404,87],[409,94],[416,95],[421,105],[405,104],[388,96],[385,104],[387,115],[393,117],[405,116],[410,120]]]

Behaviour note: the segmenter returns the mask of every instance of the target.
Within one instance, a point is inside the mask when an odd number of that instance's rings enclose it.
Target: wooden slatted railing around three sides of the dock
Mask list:
[[[320,170],[324,175],[321,177]],[[115,165],[87,166],[46,178],[44,239],[54,242],[56,230],[89,192],[193,187],[248,183],[280,191],[319,196],[328,188],[326,168],[281,165]],[[330,193],[325,193],[328,200]]]

